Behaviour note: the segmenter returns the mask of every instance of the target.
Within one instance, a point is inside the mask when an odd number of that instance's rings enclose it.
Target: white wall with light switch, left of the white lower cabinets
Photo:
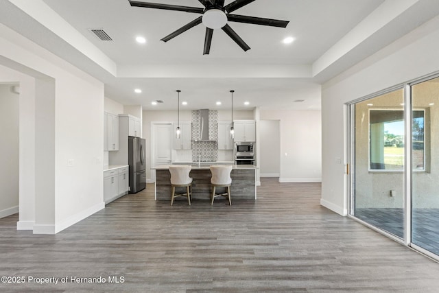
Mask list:
[[[56,75],[55,125],[55,210],[60,231],[104,207],[104,84],[67,72]],[[68,165],[70,159],[73,166]]]

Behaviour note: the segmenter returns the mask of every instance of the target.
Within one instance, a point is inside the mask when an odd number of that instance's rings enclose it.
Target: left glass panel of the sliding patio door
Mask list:
[[[355,182],[351,213],[396,237],[404,236],[404,91],[355,105]]]

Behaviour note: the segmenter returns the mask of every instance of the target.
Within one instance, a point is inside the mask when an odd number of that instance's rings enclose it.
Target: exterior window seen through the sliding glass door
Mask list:
[[[414,169],[425,169],[425,110],[412,112]],[[404,111],[370,109],[370,170],[403,170]]]

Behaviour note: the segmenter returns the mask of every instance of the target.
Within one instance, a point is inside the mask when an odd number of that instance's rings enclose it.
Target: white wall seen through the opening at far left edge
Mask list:
[[[0,218],[19,212],[19,94],[0,84]]]

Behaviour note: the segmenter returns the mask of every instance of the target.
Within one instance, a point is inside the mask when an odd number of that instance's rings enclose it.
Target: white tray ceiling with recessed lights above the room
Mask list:
[[[202,8],[198,0],[148,2]],[[187,108],[230,108],[233,89],[234,108],[248,101],[247,108],[319,109],[322,82],[436,16],[438,3],[257,0],[233,13],[289,21],[287,28],[229,23],[251,49],[215,30],[210,55],[202,54],[202,24],[160,40],[200,14],[131,7],[128,0],[0,0],[0,21],[102,80],[106,97],[122,104],[175,109],[180,89]],[[99,40],[92,28],[113,40]],[[139,35],[146,44],[135,42]],[[290,45],[281,42],[287,36],[295,38]],[[152,106],[157,99],[164,103]]]

